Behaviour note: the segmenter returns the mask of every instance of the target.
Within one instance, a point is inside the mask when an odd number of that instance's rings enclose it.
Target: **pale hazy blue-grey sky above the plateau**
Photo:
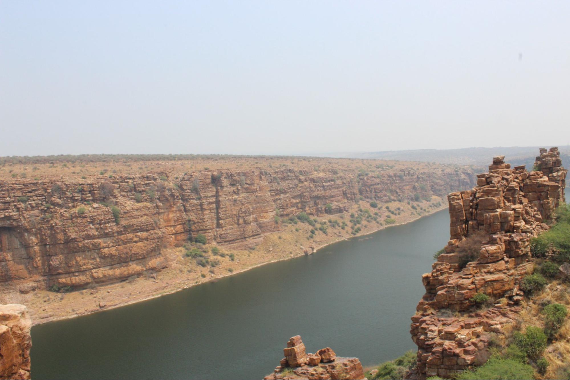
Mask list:
[[[2,0],[0,156],[565,145],[569,20],[568,1]]]

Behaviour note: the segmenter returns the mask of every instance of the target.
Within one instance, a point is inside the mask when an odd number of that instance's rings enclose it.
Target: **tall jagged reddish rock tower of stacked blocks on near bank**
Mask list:
[[[567,170],[558,149],[540,152],[535,167],[544,171],[511,169],[499,156],[473,190],[449,194],[451,239],[422,276],[426,293],[410,331],[418,363],[410,378],[449,378],[484,362],[486,333],[500,333],[516,319],[523,295],[518,284],[532,265],[530,239],[548,229],[544,220],[564,202]],[[477,293],[505,301],[485,312],[457,313],[471,309]]]

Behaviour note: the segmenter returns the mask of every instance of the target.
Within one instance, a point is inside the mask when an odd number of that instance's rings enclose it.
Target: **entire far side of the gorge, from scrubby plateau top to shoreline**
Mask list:
[[[409,222],[473,181],[425,162],[4,157],[0,303],[38,324],[160,296]]]

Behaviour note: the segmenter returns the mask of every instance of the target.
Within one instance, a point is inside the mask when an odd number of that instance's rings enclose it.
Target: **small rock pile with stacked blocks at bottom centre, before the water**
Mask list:
[[[281,359],[274,373],[264,377],[276,379],[364,379],[362,364],[357,358],[337,357],[327,347],[315,354],[307,354],[300,336],[294,336],[283,349],[285,357]]]

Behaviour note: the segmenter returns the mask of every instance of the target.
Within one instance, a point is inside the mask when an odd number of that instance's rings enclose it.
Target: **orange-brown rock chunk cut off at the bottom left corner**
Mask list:
[[[0,379],[30,378],[31,326],[25,306],[0,305]]]

